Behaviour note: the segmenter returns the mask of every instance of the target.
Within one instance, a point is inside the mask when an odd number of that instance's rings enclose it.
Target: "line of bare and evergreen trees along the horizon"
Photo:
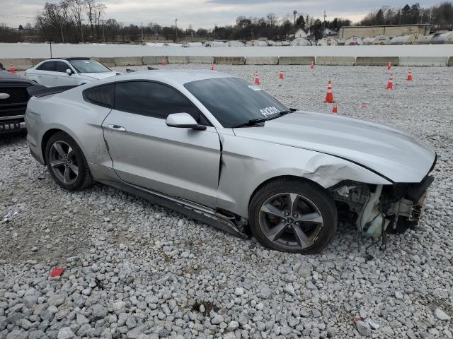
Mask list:
[[[215,26],[212,29],[198,28],[192,25],[180,29],[175,25],[123,25],[115,18],[105,19],[105,4],[96,0],[60,0],[47,2],[42,12],[36,17],[34,25],[28,23],[23,28],[28,32],[29,40],[52,42],[139,42],[140,40],[176,40],[198,38],[202,40],[254,40],[267,37],[271,40],[287,39],[295,30],[302,28],[311,33],[314,39],[325,35],[326,28],[338,31],[341,26],[352,25],[344,18],[321,21],[294,10],[282,18],[274,13],[265,17],[236,18],[234,25]],[[452,30],[453,5],[444,2],[438,6],[421,8],[416,3],[402,8],[383,7],[372,11],[356,25],[400,25],[431,23],[435,29]],[[0,41],[16,42],[24,40],[24,34],[0,25]]]

